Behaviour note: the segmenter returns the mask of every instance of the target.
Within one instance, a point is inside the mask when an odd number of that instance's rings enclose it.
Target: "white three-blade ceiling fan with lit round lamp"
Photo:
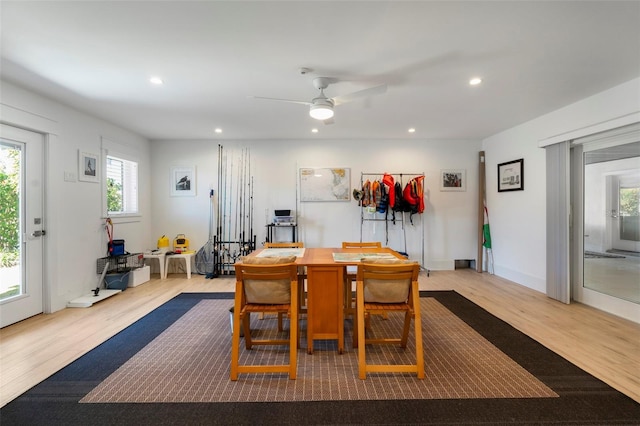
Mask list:
[[[379,86],[370,87],[368,89],[359,90],[357,92],[349,93],[342,96],[336,96],[328,98],[324,94],[324,90],[329,87],[329,84],[335,83],[338,80],[331,77],[316,77],[313,79],[313,85],[316,89],[320,90],[320,95],[313,98],[311,102],[296,101],[291,99],[279,99],[279,98],[266,98],[262,96],[251,96],[254,99],[266,99],[269,101],[290,102],[295,104],[303,104],[309,106],[309,115],[316,120],[323,121],[324,124],[333,124],[333,109],[334,107],[345,104],[347,102],[355,101],[357,99],[367,98],[369,96],[378,95],[387,91],[387,85],[381,84]]]

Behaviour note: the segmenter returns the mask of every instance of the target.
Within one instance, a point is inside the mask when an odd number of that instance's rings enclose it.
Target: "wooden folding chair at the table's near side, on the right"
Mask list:
[[[362,263],[356,278],[356,324],[353,345],[358,347],[358,376],[366,379],[368,372],[411,372],[424,378],[422,323],[418,287],[418,263]],[[402,334],[398,338],[366,338],[365,316],[374,312],[404,312]],[[411,319],[414,321],[415,364],[367,364],[368,344],[400,344],[406,348]],[[370,326],[371,328],[371,326]],[[371,332],[371,329],[369,330]]]

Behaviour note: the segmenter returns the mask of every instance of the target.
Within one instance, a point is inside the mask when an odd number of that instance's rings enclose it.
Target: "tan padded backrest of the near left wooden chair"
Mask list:
[[[298,283],[295,263],[235,265],[236,281],[242,282],[244,297],[252,304],[289,304]]]

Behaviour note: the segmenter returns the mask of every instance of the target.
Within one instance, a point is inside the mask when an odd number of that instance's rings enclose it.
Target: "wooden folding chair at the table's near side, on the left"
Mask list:
[[[291,262],[281,264],[236,264],[236,293],[231,341],[231,380],[239,373],[289,373],[296,378],[298,354],[298,267]],[[288,339],[254,339],[251,336],[252,313],[283,313],[290,318]],[[277,365],[240,365],[240,327],[245,346],[289,345],[289,363]]]

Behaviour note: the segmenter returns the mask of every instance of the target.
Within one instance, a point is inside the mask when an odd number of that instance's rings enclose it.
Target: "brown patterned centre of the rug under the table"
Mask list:
[[[282,402],[385,399],[551,398],[558,395],[506,356],[433,297],[420,298],[425,377],[410,373],[371,373],[358,378],[353,321],[344,322],[344,353],[337,341],[315,342],[306,353],[306,316],[300,321],[297,378],[288,374],[241,374],[229,380],[231,332],[228,300],[202,300],[144,349],[82,398],[83,403],[122,402]],[[372,315],[369,336],[400,336],[404,315]],[[277,315],[257,315],[251,321],[254,338],[285,339]],[[406,349],[400,345],[369,345],[373,364],[413,364],[413,330]],[[277,365],[288,362],[286,345],[239,345],[241,364]]]

